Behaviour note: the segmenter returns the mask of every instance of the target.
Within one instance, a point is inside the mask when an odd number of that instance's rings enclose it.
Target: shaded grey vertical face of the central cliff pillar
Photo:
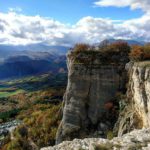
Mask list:
[[[102,64],[98,56],[87,60],[88,65],[77,63],[68,55],[68,85],[57,144],[94,134],[104,136],[117,119],[114,97],[117,91],[125,90],[125,63]]]

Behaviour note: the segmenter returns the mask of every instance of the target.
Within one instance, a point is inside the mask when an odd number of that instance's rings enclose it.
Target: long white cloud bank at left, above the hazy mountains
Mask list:
[[[0,13],[0,31],[3,31],[0,39],[8,39],[4,43],[53,42],[55,38],[62,38],[65,28],[65,25],[53,19],[25,16],[15,12]]]

